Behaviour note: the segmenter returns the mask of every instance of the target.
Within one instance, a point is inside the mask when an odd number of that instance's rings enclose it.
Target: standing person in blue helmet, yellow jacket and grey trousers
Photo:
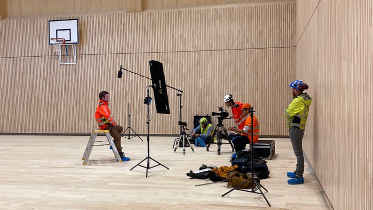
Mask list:
[[[292,91],[292,101],[283,112],[286,118],[286,126],[289,128],[290,141],[292,149],[296,156],[296,169],[294,172],[287,172],[288,184],[304,183],[304,157],[302,149],[302,139],[304,135],[305,122],[307,121],[311,97],[303,93],[308,89],[308,85],[301,80],[294,80],[289,87]]]

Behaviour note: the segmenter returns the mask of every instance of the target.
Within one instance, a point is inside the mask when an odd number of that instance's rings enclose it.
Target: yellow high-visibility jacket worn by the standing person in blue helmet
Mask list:
[[[287,109],[283,112],[287,127],[305,128],[311,101],[312,98],[307,93],[302,93],[292,99]]]

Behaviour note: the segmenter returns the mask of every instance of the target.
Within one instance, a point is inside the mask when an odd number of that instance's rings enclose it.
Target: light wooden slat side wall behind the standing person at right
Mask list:
[[[313,97],[304,151],[335,209],[373,209],[372,6],[321,0],[295,50]]]

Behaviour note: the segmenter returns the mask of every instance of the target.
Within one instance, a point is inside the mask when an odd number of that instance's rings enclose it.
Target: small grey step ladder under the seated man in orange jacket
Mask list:
[[[108,144],[94,144],[98,133],[104,133],[105,136],[106,136],[106,138],[107,138],[107,141],[109,143]],[[104,142],[104,141],[96,141],[96,142]],[[90,134],[87,146],[85,147],[85,151],[84,151],[83,157],[81,158],[81,160],[84,160],[83,161],[83,165],[87,164],[88,158],[89,158],[90,152],[92,151],[93,146],[105,146],[105,145],[111,145],[112,152],[114,153],[117,161],[118,162],[122,162],[122,160],[120,158],[120,155],[119,155],[119,152],[118,152],[118,150],[115,147],[113,138],[110,136],[109,131],[108,130],[93,129],[92,133]]]

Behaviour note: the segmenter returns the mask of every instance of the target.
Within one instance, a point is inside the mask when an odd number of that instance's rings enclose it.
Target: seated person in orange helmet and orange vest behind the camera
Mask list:
[[[251,105],[248,103],[242,104],[242,114],[244,116],[247,116],[247,118],[244,121],[243,129],[237,129],[229,127],[227,130],[234,131],[236,133],[239,133],[240,135],[236,135],[232,138],[232,144],[234,146],[235,154],[232,155],[232,157],[236,157],[237,152],[241,151],[246,147],[247,143],[250,143],[251,139],[251,129],[253,129],[253,143],[258,142],[259,138],[259,122],[256,119],[256,116],[253,115],[253,125],[251,125],[251,116],[249,116],[250,111],[249,108],[251,108]]]

